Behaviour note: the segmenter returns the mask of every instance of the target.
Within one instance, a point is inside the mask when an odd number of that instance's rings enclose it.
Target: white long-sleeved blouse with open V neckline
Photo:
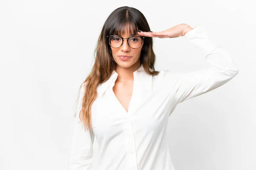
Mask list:
[[[143,65],[134,72],[128,112],[113,93],[118,74],[97,88],[92,105],[93,130],[82,129],[79,112],[74,122],[69,170],[174,170],[167,142],[167,124],[177,104],[224,85],[239,73],[230,54],[212,44],[202,25],[184,37],[207,52],[210,67],[199,71],[160,71],[148,75]],[[80,91],[80,108],[83,88]],[[92,167],[93,141],[98,158]]]

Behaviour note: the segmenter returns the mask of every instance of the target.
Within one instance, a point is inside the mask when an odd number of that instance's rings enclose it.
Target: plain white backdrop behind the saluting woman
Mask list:
[[[0,1],[0,170],[67,170],[73,105],[108,15],[139,9],[152,31],[202,24],[239,74],[169,117],[175,170],[256,169],[256,12],[243,0]],[[185,37],[154,38],[155,68],[207,68]],[[93,145],[96,158],[97,141]]]

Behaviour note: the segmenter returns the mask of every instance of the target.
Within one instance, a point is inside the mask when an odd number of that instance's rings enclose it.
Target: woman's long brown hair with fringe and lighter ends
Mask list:
[[[90,74],[80,86],[80,90],[83,87],[84,91],[79,118],[87,130],[88,128],[92,129],[91,106],[97,97],[97,86],[111,77],[117,65],[112,57],[107,36],[125,33],[136,34],[137,30],[150,31],[150,28],[144,15],[136,8],[128,6],[116,8],[105,21],[94,51],[94,54],[96,53],[95,63]],[[154,69],[155,54],[152,37],[145,37],[139,60],[148,74],[157,75],[159,73]],[[153,71],[150,71],[149,68]]]

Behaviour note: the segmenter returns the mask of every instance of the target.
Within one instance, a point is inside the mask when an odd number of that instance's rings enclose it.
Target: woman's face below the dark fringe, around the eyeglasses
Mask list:
[[[131,37],[131,35],[126,33],[124,35],[120,35],[120,37],[128,38],[128,37]],[[131,48],[128,45],[127,40],[128,39],[124,39],[121,47],[119,48],[111,47],[112,56],[115,62],[117,63],[117,67],[122,67],[122,68],[129,68],[131,66],[137,67],[137,64],[139,62],[144,40],[142,40],[142,44],[140,45],[140,48],[136,48],[136,49]],[[128,57],[122,58],[120,57],[120,55],[125,55]]]

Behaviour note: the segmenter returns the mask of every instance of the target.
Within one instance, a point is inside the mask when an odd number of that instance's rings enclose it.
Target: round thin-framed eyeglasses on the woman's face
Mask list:
[[[119,48],[121,47],[122,43],[124,42],[124,39],[127,39],[127,43],[131,48],[140,48],[142,44],[142,40],[145,37],[140,37],[140,36],[131,36],[128,38],[122,38],[118,35],[109,35],[109,45],[113,48]]]

